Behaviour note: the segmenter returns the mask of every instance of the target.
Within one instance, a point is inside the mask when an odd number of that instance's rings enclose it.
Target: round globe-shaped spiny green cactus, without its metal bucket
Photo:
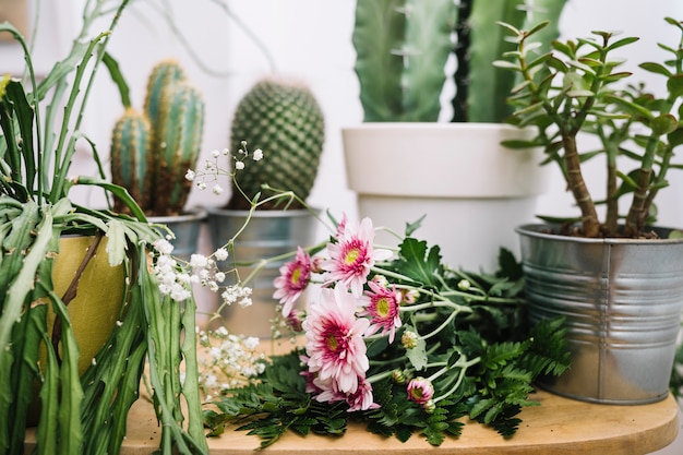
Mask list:
[[[313,188],[325,141],[323,112],[304,85],[275,80],[257,82],[240,100],[232,119],[230,147],[247,141],[264,158],[239,170],[237,180],[251,199],[262,184],[291,190],[305,200]],[[245,209],[249,201],[232,192],[228,208]],[[262,208],[267,207],[266,204]]]

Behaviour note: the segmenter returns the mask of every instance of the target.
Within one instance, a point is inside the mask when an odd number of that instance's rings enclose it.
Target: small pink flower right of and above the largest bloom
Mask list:
[[[370,303],[359,315],[369,315],[372,320],[366,335],[372,335],[382,330],[382,335],[388,333],[388,343],[394,343],[396,328],[400,327],[400,299],[403,294],[395,286],[387,288],[376,280],[368,282],[371,290],[366,291]]]

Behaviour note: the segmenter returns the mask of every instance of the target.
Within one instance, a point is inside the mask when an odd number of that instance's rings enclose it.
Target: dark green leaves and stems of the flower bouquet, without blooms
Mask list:
[[[219,434],[229,423],[260,436],[263,448],[288,430],[339,435],[349,422],[360,422],[385,438],[405,442],[419,434],[438,446],[457,438],[468,417],[512,436],[522,408],[537,405],[529,398],[534,381],[560,374],[570,363],[563,320],[528,326],[519,266],[502,251],[496,274],[454,271],[441,262],[439,248],[405,238],[398,258],[379,264],[374,273],[420,289],[396,332],[397,339],[407,332],[419,338],[415,348],[390,343],[387,335],[366,338],[367,378],[378,406],[348,412],[345,400],[319,403],[305,392],[310,378],[298,348],[274,357],[252,383],[215,403],[218,411],[205,414],[211,433]],[[430,406],[408,398],[408,381],[417,376],[431,378]]]

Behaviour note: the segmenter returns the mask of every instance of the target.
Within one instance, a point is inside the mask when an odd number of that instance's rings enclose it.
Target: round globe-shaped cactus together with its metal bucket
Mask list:
[[[236,170],[238,185],[225,207],[208,208],[208,228],[215,248],[228,244],[242,263],[238,276],[249,279],[252,306],[233,311],[221,306],[228,330],[254,336],[274,334],[277,300],[273,280],[287,259],[269,262],[255,273],[254,263],[312,244],[316,213],[308,199],[325,142],[324,116],[313,93],[298,81],[267,77],[254,84],[237,106],[230,129],[230,149],[263,159]],[[268,189],[290,191],[291,197],[269,197]],[[249,229],[232,243],[244,221]],[[249,277],[249,278],[248,278]],[[303,304],[303,300],[301,302]]]

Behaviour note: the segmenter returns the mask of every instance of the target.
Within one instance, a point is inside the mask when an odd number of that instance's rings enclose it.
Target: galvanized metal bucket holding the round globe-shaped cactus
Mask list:
[[[208,208],[208,230],[214,249],[225,244],[242,228],[248,211],[226,211]],[[235,242],[233,258],[228,261],[257,263],[259,261],[296,253],[297,247],[313,243],[317,220],[307,209],[254,212],[249,226]],[[224,307],[221,315],[226,328],[235,334],[257,337],[272,336],[272,321],[276,316],[277,300],[273,299],[273,280],[279,276],[279,267],[293,259],[281,259],[264,265],[249,282],[252,288],[252,306]],[[237,267],[241,279],[254,272],[254,266]],[[305,304],[305,298],[299,299]]]

